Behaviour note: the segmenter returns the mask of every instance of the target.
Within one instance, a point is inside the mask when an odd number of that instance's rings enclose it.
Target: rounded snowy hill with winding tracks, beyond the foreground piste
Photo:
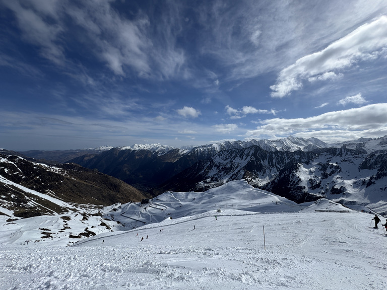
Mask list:
[[[105,207],[103,213],[132,229],[167,218],[176,219],[217,209],[282,212],[299,211],[304,207],[279,195],[253,188],[245,180],[236,180],[206,192],[167,191],[145,204],[117,203]]]

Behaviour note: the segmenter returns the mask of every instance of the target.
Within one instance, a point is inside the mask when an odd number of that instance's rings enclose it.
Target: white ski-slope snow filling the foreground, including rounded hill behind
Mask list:
[[[384,289],[387,236],[369,212],[327,199],[295,204],[244,181],[166,192],[104,209],[143,226],[71,247],[62,238],[21,244],[1,230],[0,289]]]

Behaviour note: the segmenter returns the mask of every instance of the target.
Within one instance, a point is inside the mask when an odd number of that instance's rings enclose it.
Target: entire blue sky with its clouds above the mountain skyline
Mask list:
[[[0,0],[0,147],[387,134],[387,1]]]

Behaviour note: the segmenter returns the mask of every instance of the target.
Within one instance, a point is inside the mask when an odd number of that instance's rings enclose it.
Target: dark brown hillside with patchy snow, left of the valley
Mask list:
[[[111,205],[149,198],[148,194],[119,179],[76,164],[48,167],[3,154],[0,160],[0,175],[4,178],[66,202]],[[1,206],[20,212],[21,217],[67,211],[7,183],[0,182],[0,196]]]

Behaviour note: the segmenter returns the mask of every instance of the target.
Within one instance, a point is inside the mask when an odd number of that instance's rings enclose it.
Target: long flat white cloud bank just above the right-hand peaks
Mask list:
[[[289,136],[308,134],[317,136],[318,132],[331,132],[331,137],[346,134],[361,134],[373,132],[373,136],[381,136],[387,130],[387,103],[372,104],[360,108],[328,112],[309,118],[284,119],[274,118],[261,121],[261,126],[249,130],[246,135],[260,138],[260,136]],[[336,134],[335,132],[341,132]],[[344,136],[344,134],[343,134]],[[343,138],[341,136],[340,138]],[[326,138],[327,139],[327,138]]]

